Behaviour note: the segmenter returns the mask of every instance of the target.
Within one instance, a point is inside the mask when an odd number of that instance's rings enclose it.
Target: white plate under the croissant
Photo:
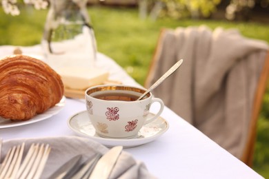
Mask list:
[[[66,105],[66,97],[63,96],[61,98],[61,101],[54,105],[54,107],[51,107],[50,109],[46,110],[46,112],[43,112],[42,114],[37,114],[30,120],[19,120],[19,121],[12,121],[5,118],[0,117],[0,129],[1,128],[8,128],[8,127],[16,127],[21,125],[28,125],[31,123],[37,123],[41,120],[45,120],[47,118],[50,118],[51,116],[59,113],[61,109],[63,109],[63,106]]]

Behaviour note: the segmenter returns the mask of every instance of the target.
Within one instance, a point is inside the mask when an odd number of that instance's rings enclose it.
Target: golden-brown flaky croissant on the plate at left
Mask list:
[[[63,82],[52,68],[30,56],[0,60],[0,116],[28,120],[61,101]]]

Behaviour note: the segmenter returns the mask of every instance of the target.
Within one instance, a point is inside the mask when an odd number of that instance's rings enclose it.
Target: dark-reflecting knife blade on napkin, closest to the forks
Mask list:
[[[70,178],[77,170],[79,169],[78,162],[81,159],[82,155],[79,154],[77,156],[74,156],[70,158],[66,163],[64,163],[57,171],[52,173],[52,175],[49,177],[50,179],[56,179],[56,178]]]

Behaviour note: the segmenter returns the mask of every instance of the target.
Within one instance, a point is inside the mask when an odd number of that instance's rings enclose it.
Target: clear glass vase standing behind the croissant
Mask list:
[[[97,45],[87,0],[50,0],[41,45],[46,62],[60,67],[94,67]]]

